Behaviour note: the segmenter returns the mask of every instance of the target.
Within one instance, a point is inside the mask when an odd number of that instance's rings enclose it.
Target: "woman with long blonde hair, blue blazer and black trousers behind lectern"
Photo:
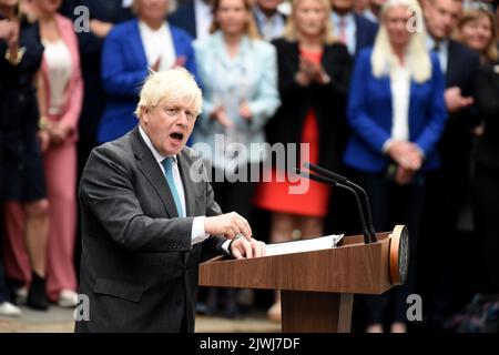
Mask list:
[[[409,11],[411,10],[411,11]],[[446,122],[444,78],[438,59],[425,48],[416,0],[388,0],[373,49],[359,53],[348,102],[354,132],[344,162],[370,195],[377,231],[406,224],[410,233],[408,281],[381,296],[367,296],[367,332],[406,331],[406,297],[415,278],[417,226],[425,172],[439,165],[436,144]]]

